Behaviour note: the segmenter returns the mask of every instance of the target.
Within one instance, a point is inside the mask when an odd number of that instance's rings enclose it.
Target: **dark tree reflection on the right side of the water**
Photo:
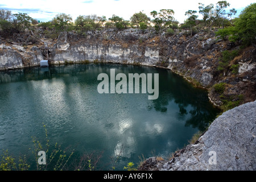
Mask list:
[[[159,75],[159,98],[153,101],[156,111],[167,112],[168,102],[174,100],[179,107],[179,117],[186,120],[185,126],[205,130],[217,110],[210,105],[207,93],[203,89],[193,88],[180,76],[171,72]]]

